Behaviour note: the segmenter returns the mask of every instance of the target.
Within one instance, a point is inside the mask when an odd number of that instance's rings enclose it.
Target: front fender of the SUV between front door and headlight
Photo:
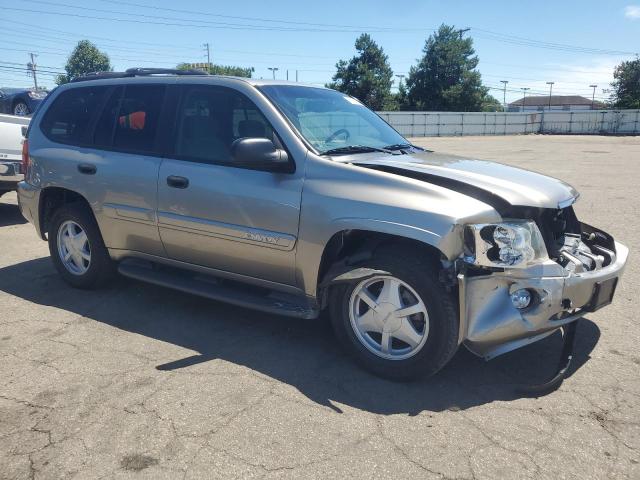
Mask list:
[[[416,240],[453,260],[462,226],[498,221],[490,205],[438,185],[309,155],[302,192],[296,281],[315,296],[326,245],[339,232]]]

